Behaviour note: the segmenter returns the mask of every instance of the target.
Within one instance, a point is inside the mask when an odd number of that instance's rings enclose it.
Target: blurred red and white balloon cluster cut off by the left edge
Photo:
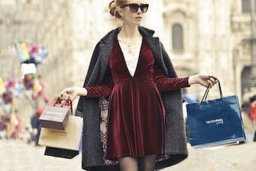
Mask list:
[[[0,105],[14,105],[23,89],[22,82],[18,79],[0,77]]]

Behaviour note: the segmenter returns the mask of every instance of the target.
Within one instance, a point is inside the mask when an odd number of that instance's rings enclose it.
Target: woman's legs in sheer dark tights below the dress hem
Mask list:
[[[121,171],[154,171],[156,155],[122,157],[118,160]]]

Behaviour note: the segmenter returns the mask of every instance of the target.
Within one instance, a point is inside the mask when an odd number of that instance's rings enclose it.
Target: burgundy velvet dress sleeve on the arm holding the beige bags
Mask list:
[[[108,67],[104,80],[101,84],[85,86],[88,92],[86,97],[109,96],[110,93],[112,92],[113,87],[114,87],[114,82],[111,77],[110,68]]]

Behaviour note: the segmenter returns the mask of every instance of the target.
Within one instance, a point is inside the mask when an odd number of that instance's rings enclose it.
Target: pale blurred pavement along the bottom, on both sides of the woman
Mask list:
[[[44,147],[28,145],[21,140],[0,140],[0,170],[6,171],[82,171],[81,154],[73,159],[46,157]],[[253,171],[256,170],[256,143],[222,145],[193,149],[178,165],[162,171]]]

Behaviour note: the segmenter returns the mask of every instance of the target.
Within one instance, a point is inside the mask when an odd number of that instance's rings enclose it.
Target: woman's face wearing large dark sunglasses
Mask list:
[[[141,8],[147,10],[146,6],[143,4],[143,0],[127,0],[126,6],[122,6],[122,8],[120,8],[119,10],[119,14],[122,16],[122,22],[128,25],[140,25],[142,22],[143,14]],[[141,5],[143,5],[144,7],[138,7]]]

